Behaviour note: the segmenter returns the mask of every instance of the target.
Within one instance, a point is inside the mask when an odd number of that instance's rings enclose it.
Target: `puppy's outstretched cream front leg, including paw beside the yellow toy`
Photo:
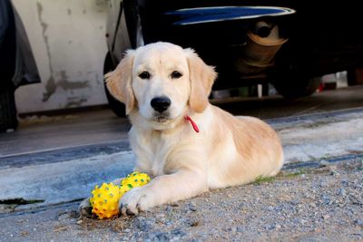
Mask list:
[[[191,198],[208,190],[207,176],[203,172],[182,169],[162,175],[141,187],[125,193],[119,206],[123,215],[137,214],[164,203]]]

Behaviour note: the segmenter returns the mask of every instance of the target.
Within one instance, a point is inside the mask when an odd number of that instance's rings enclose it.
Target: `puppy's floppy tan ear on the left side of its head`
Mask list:
[[[115,99],[125,104],[126,114],[129,114],[135,105],[135,96],[132,91],[132,64],[134,55],[134,51],[127,51],[116,69],[104,75],[108,91]]]

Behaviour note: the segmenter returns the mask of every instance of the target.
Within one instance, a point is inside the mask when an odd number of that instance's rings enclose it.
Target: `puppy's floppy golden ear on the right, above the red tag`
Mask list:
[[[192,111],[202,112],[207,108],[211,86],[217,77],[214,68],[204,63],[192,49],[184,50],[188,59],[191,96],[189,105]]]

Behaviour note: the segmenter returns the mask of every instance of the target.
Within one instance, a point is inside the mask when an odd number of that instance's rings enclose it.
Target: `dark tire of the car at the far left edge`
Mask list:
[[[17,125],[15,88],[12,84],[5,84],[0,90],[0,132],[15,130]]]

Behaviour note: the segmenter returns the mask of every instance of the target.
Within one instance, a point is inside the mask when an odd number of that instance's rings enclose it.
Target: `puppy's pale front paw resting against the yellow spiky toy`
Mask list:
[[[148,187],[131,189],[119,202],[120,212],[123,215],[135,215],[155,205],[154,193]]]

